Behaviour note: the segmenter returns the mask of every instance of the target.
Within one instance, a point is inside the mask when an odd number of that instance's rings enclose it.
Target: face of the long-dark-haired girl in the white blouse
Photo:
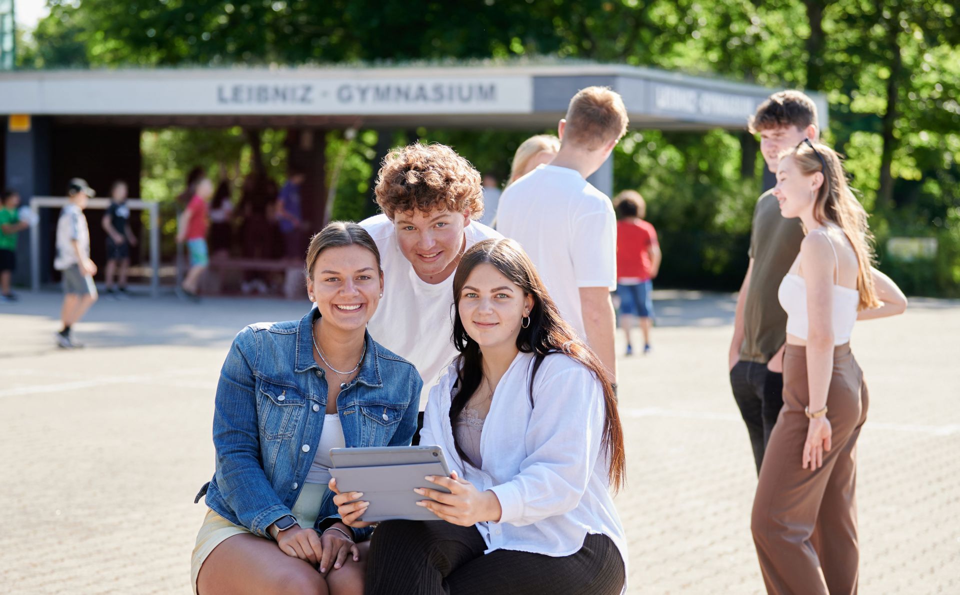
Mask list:
[[[457,313],[481,348],[516,345],[520,324],[534,307],[533,296],[489,263],[477,265],[460,291]]]

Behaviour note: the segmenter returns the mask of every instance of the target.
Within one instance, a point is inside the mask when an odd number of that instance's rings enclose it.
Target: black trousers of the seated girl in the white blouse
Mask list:
[[[476,527],[393,520],[373,532],[367,595],[618,595],[623,559],[607,535],[587,535],[576,554],[497,550]]]

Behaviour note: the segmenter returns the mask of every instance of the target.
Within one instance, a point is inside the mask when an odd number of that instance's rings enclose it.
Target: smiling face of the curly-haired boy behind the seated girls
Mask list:
[[[457,268],[466,241],[464,227],[469,221],[469,211],[434,208],[425,213],[396,213],[396,242],[420,279],[439,283]]]

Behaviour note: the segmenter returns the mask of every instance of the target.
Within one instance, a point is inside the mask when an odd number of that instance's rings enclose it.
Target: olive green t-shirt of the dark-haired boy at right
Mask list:
[[[784,219],[772,191],[760,196],[750,231],[754,270],[743,305],[741,361],[766,364],[786,341],[786,312],[780,307],[777,291],[803,241],[800,219]]]

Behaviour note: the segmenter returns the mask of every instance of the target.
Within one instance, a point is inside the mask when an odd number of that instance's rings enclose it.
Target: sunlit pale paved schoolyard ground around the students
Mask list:
[[[86,349],[53,347],[60,297],[0,306],[0,591],[189,593],[232,336],[306,302],[96,304]],[[759,593],[756,485],[726,373],[729,296],[658,293],[650,356],[620,362],[631,593]],[[864,593],[960,593],[960,302],[914,300],[854,332],[870,385],[859,441]],[[798,453],[798,464],[800,454]]]

